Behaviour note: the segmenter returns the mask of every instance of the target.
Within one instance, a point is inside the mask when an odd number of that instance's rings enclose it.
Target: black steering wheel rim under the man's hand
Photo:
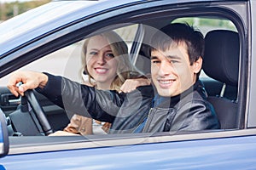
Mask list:
[[[27,90],[24,95],[28,103],[31,105],[35,116],[38,118],[38,122],[42,127],[44,134],[49,135],[50,133],[53,133],[52,127],[49,125],[49,122],[44,114],[44,110],[41,105],[39,105],[38,99],[36,98],[33,90]]]

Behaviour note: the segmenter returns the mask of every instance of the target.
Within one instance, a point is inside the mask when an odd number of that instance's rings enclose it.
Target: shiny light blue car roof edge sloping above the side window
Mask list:
[[[171,3],[212,2],[212,0],[175,0]],[[53,1],[33,8],[0,24],[0,59],[11,49],[25,44],[35,37],[55,31],[61,26],[81,18],[113,11],[140,3],[160,3],[168,0],[101,0],[101,1]],[[4,33],[3,33],[4,32]]]

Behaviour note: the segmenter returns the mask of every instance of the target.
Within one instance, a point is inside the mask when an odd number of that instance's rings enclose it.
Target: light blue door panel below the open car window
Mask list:
[[[256,136],[135,144],[7,156],[6,169],[250,169],[256,168]],[[22,165],[20,165],[22,162]]]

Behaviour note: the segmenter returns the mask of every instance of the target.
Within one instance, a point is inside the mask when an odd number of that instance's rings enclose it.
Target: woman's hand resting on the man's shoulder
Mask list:
[[[139,86],[150,85],[150,80],[147,78],[137,78],[137,79],[127,79],[124,84],[121,86],[120,90],[124,93],[130,93]]]

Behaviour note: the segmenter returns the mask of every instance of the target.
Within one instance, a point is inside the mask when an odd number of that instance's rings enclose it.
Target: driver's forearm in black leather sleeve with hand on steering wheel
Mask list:
[[[18,82],[23,84],[17,87]],[[113,122],[123,96],[110,91],[96,91],[95,88],[72,82],[64,77],[35,71],[16,71],[9,79],[8,88],[15,96],[24,95],[27,89],[36,88],[40,94],[44,94],[55,105],[64,108],[67,113],[75,112],[104,122]],[[111,115],[108,114],[110,112]]]

